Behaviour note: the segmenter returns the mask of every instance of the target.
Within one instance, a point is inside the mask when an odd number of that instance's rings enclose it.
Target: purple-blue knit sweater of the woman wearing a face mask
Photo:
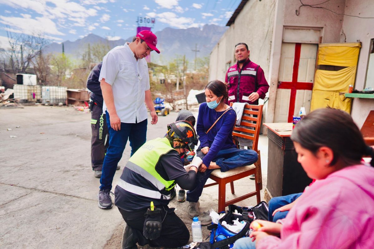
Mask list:
[[[214,127],[206,134],[206,131],[219,118],[222,112],[216,112],[210,109],[206,103],[202,103],[199,107],[199,115],[197,116],[196,132],[199,135],[200,146],[209,147],[208,154],[203,158],[203,164],[207,167],[215,158],[217,153],[222,149],[236,148],[233,143],[232,131],[236,121],[236,113],[230,107]]]

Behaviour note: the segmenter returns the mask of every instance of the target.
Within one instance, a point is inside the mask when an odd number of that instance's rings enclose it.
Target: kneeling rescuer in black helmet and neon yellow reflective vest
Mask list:
[[[131,156],[114,190],[114,203],[126,221],[123,249],[137,248],[136,243],[167,248],[186,245],[190,233],[168,204],[175,184],[187,190],[196,186],[202,160],[195,156],[184,168],[181,157],[193,151],[198,138],[190,123],[177,121],[168,125],[165,137],[147,141]]]

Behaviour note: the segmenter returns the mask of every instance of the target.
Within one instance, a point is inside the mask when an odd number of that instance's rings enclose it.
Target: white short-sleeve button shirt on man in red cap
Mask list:
[[[112,86],[114,106],[122,123],[141,122],[148,117],[144,103],[145,91],[150,89],[148,65],[144,58],[135,59],[127,43],[104,56],[99,81],[103,78]],[[107,111],[105,101],[102,110]]]

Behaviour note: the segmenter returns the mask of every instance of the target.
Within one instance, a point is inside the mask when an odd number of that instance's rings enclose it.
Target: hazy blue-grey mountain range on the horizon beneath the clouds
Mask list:
[[[199,50],[196,53],[197,57],[209,56],[226,29],[227,27],[206,24],[202,28],[164,28],[161,31],[157,31],[155,35],[157,36],[157,48],[160,50],[160,54],[151,53],[151,62],[166,65],[177,56],[186,55],[186,59],[193,63],[195,59],[195,52],[193,50]],[[64,41],[63,44],[65,54],[79,58],[88,44],[108,44],[112,49],[113,47],[125,44],[126,41],[131,42],[132,38],[111,41],[95,34],[89,34],[76,41]],[[61,43],[51,43],[44,51],[47,53],[61,53],[62,45]]]

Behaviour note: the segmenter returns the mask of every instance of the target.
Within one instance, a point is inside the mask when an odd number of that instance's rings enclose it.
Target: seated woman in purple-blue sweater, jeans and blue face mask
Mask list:
[[[250,165],[258,158],[254,150],[237,149],[233,143],[232,131],[236,122],[236,113],[224,103],[228,98],[225,84],[219,80],[209,82],[205,86],[205,98],[206,103],[202,103],[199,107],[196,125],[200,140],[197,156],[203,159],[203,164],[196,175],[196,188],[187,192],[187,201],[190,202],[188,215],[191,219],[199,217],[202,225],[211,224],[209,214],[203,212],[200,215],[199,212],[199,197],[211,172],[214,169],[225,172]],[[217,123],[212,127],[215,121]]]

